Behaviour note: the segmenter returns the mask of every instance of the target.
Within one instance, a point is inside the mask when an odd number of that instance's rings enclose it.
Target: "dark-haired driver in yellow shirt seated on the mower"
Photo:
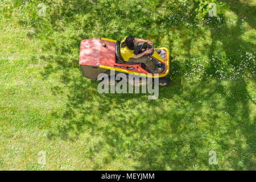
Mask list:
[[[152,73],[162,73],[162,68],[155,68],[155,64],[146,55],[152,53],[153,49],[147,49],[146,51],[139,53],[143,43],[152,45],[150,40],[136,39],[133,36],[126,36],[121,42],[120,53],[124,61],[144,63]],[[157,53],[160,53],[160,49],[155,49]]]

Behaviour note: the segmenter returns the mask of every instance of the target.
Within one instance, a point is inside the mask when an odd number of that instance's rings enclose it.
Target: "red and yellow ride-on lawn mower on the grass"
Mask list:
[[[82,75],[86,78],[100,81],[98,80],[98,75],[100,73],[107,73],[108,76],[110,76],[110,70],[113,69],[115,75],[122,72],[125,73],[127,77],[129,76],[129,73],[132,73],[139,77],[151,77],[153,78],[152,80],[159,78],[159,86],[167,86],[170,82],[170,79],[167,77],[170,64],[169,50],[164,47],[158,48],[161,50],[158,54],[155,51],[154,46],[147,43],[142,44],[140,50],[142,52],[146,51],[148,48],[153,48],[152,53],[148,56],[154,61],[155,67],[162,68],[162,73],[152,74],[143,63],[123,61],[120,53],[120,42],[117,40],[106,38],[82,40],[79,57]],[[146,79],[138,80],[139,85],[143,85],[142,80]]]

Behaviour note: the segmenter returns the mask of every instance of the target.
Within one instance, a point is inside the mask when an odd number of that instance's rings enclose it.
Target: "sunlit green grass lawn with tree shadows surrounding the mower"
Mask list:
[[[225,1],[218,19],[196,18],[193,1],[44,2],[44,18],[30,2],[1,11],[1,170],[256,169],[256,1]],[[82,39],[126,35],[170,49],[157,100],[82,77]]]

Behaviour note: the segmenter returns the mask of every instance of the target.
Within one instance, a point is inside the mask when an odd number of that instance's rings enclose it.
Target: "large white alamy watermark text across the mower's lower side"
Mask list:
[[[134,75],[129,73],[115,74],[113,69],[110,70],[110,76],[106,73],[100,73],[98,80],[99,93],[149,93],[148,100],[156,100],[159,96],[159,78],[158,74],[154,74],[156,78],[151,78],[152,74]],[[154,82],[154,84],[153,84]],[[128,92],[127,92],[128,83]]]

